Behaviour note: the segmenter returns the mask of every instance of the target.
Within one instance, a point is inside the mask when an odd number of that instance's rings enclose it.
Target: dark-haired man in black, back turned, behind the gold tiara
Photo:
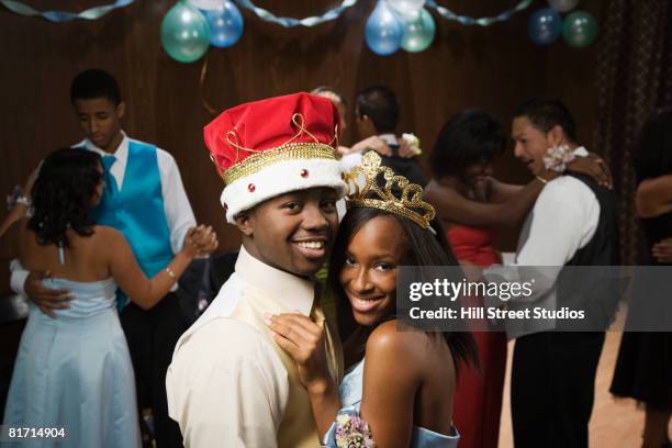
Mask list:
[[[369,87],[357,96],[355,105],[357,131],[360,138],[378,135],[388,144],[390,155],[381,154],[382,165],[404,176],[411,182],[422,187],[427,179],[415,157],[400,156],[400,142],[395,135],[399,121],[399,102],[394,92],[387,87]]]

